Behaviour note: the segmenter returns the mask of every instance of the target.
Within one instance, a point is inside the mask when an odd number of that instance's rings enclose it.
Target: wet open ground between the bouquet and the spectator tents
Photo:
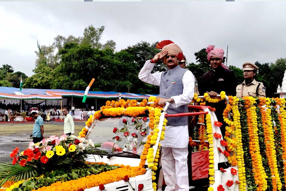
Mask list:
[[[74,122],[75,135],[85,126],[85,121]],[[31,123],[1,123],[0,124],[0,161],[11,161],[9,155],[13,149],[19,147],[20,151],[27,149],[28,143],[32,141],[30,135],[33,131],[33,122]],[[60,136],[64,132],[64,122],[50,123],[44,122],[44,136]]]

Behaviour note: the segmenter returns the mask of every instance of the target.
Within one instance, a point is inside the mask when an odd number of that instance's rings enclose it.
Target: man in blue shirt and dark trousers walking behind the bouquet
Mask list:
[[[39,116],[37,112],[32,112],[31,116],[33,116],[36,119],[33,127],[33,143],[38,143],[44,139],[43,118]]]

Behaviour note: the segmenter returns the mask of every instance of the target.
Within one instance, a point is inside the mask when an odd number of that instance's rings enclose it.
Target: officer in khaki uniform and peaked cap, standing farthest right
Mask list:
[[[262,82],[254,79],[258,67],[250,62],[243,63],[244,81],[236,87],[236,97],[242,98],[244,96],[252,96],[265,98],[265,90]]]

